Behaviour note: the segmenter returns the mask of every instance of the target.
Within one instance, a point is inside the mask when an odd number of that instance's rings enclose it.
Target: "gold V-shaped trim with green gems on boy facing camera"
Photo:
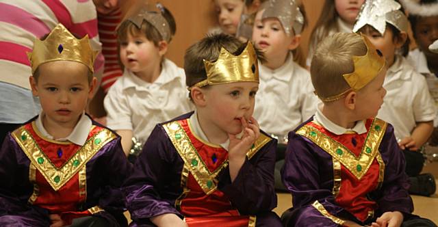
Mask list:
[[[110,130],[101,130],[96,135],[90,137],[69,161],[64,163],[62,167],[57,168],[51,163],[50,159],[47,158],[34,138],[23,126],[16,129],[12,136],[31,163],[36,166],[36,169],[38,169],[55,191],[70,181],[70,178],[75,176],[105,144],[116,138],[116,135]],[[42,163],[41,160],[43,160]]]

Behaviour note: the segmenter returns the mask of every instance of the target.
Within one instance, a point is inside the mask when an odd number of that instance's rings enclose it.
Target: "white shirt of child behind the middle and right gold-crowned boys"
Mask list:
[[[266,133],[287,135],[315,113],[318,97],[310,74],[294,62],[292,54],[275,70],[259,63],[259,78],[253,116]]]

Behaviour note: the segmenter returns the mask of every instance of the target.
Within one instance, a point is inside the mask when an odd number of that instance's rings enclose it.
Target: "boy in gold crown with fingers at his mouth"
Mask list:
[[[158,124],[144,144],[123,186],[132,226],[281,226],[271,211],[276,139],[252,117],[252,44],[209,36],[186,51],[184,70],[196,110]]]

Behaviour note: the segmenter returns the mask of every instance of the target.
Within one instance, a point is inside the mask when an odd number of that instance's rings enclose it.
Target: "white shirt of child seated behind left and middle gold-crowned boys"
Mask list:
[[[146,142],[156,124],[193,109],[184,70],[168,59],[164,59],[162,72],[153,83],[125,70],[105,96],[104,106],[110,129],[131,130],[142,142]]]

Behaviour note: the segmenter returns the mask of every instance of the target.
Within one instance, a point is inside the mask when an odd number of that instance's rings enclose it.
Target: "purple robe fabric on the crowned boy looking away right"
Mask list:
[[[359,219],[335,201],[332,156],[308,137],[297,133],[312,120],[298,126],[296,131],[289,132],[285,165],[281,170],[283,183],[292,193],[292,214],[287,226],[340,226],[336,218],[361,224]],[[413,211],[413,202],[407,191],[409,183],[404,172],[404,156],[394,136],[394,128],[389,124],[378,152],[385,163],[383,183],[367,194],[368,199],[377,205],[374,218],[387,211],[400,211],[406,216]],[[333,218],[322,215],[313,205],[315,201]]]

